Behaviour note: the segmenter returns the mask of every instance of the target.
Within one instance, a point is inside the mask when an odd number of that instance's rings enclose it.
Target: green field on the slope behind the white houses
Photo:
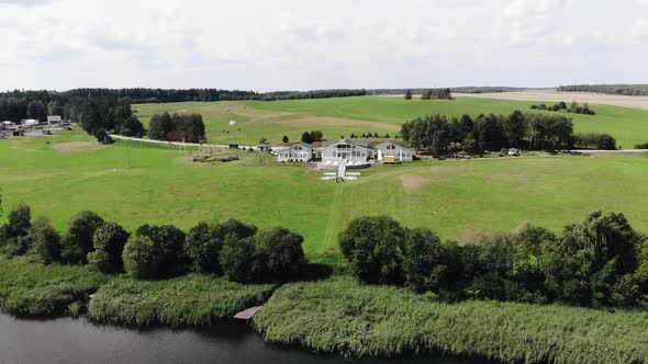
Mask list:
[[[567,100],[569,101],[569,100]],[[187,102],[136,105],[138,117],[148,123],[150,115],[168,112],[203,115],[208,138],[212,143],[256,144],[261,137],[280,144],[283,135],[299,140],[305,130],[321,129],[328,139],[378,133],[380,136],[399,132],[401,123],[426,114],[460,116],[481,113],[510,114],[514,110],[529,111],[536,101],[510,101],[457,98],[453,101],[405,101],[401,98],[367,96],[294,100],[276,102]],[[568,114],[577,133],[608,133],[625,149],[648,143],[648,111],[608,105],[591,105],[596,115]],[[230,126],[230,121],[238,122]]]

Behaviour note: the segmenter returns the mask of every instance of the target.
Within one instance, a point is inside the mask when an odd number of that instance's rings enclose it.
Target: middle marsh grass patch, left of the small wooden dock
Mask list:
[[[165,281],[121,277],[92,296],[88,316],[96,322],[137,327],[209,326],[262,304],[273,289],[198,274]]]

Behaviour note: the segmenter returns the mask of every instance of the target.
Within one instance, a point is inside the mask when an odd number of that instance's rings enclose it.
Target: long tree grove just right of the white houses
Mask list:
[[[562,115],[522,113],[481,114],[450,117],[427,115],[401,125],[401,137],[411,148],[434,156],[463,150],[479,153],[502,148],[530,150],[570,149],[573,145],[573,124]]]

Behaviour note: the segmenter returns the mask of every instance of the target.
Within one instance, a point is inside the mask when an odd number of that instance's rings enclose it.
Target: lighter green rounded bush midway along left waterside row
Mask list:
[[[137,280],[155,277],[155,253],[150,238],[139,235],[130,237],[122,254],[124,271]]]

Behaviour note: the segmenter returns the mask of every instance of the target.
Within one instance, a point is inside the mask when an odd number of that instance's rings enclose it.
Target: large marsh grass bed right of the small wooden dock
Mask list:
[[[280,287],[255,326],[273,343],[359,356],[440,351],[524,363],[648,362],[647,311],[448,305],[344,276]]]

